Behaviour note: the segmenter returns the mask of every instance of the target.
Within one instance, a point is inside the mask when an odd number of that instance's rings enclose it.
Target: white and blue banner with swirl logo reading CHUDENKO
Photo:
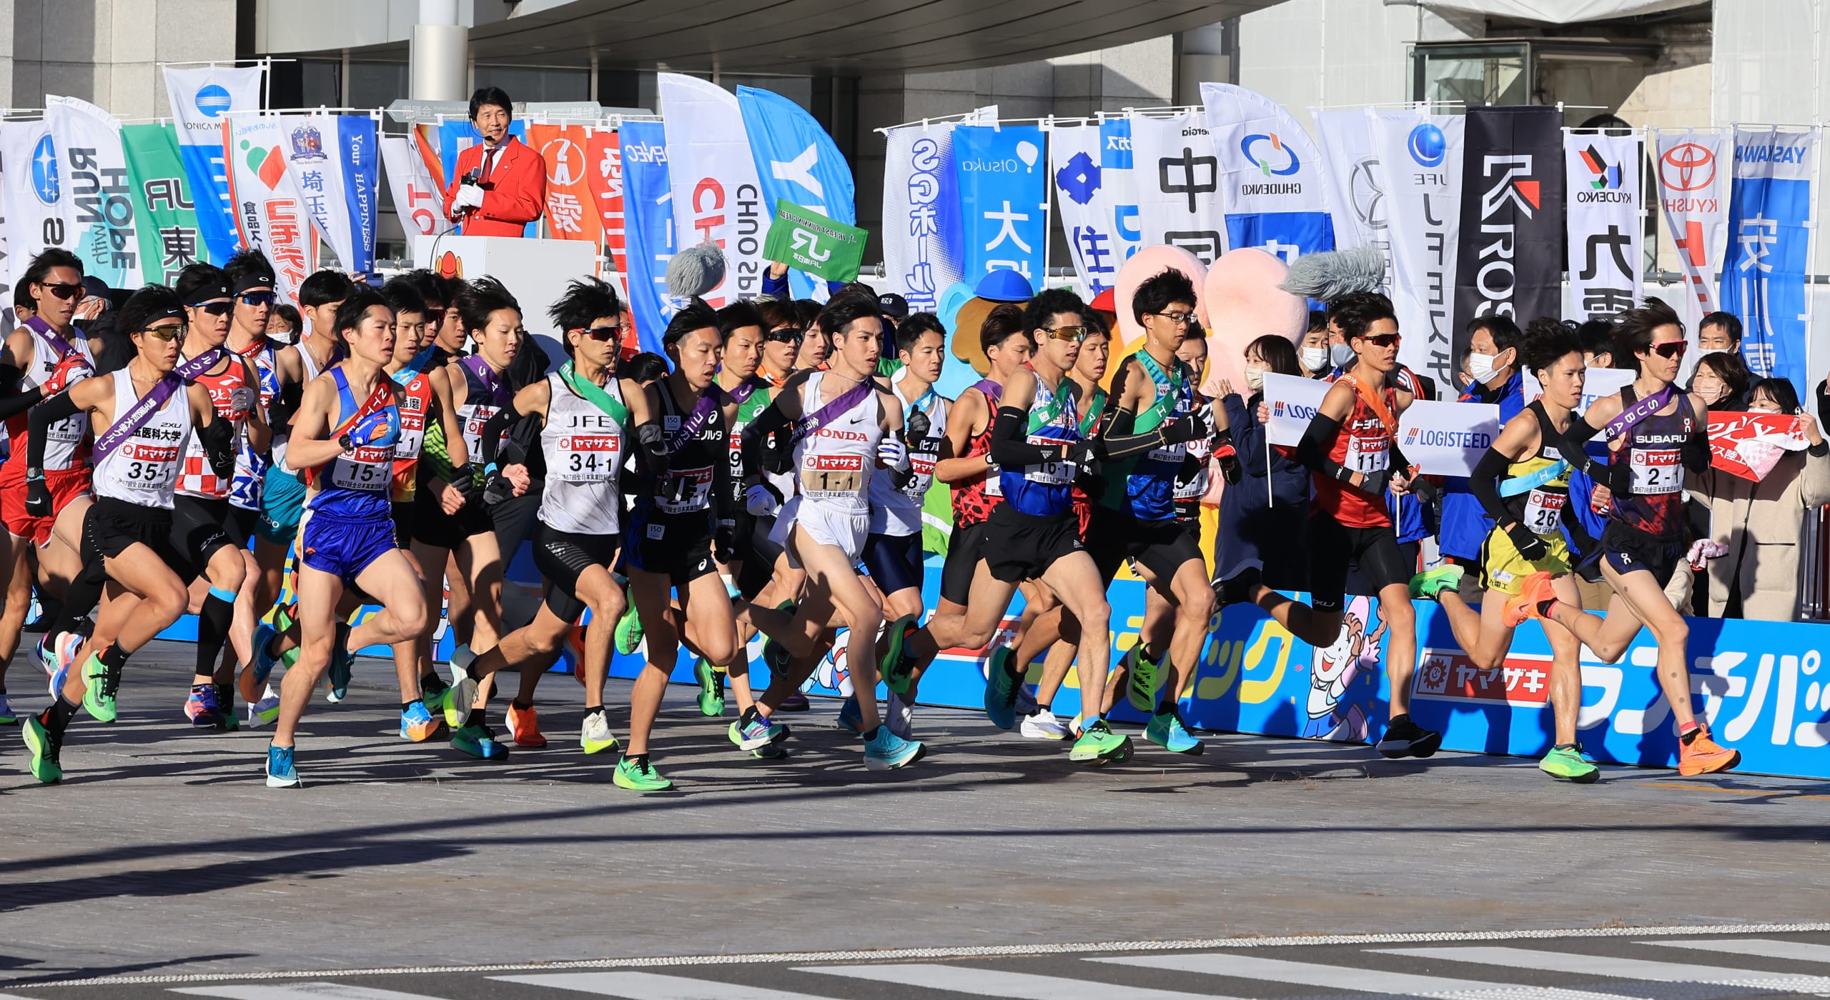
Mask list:
[[[1200,84],[1221,161],[1226,249],[1259,247],[1285,263],[1334,249],[1321,152],[1290,112],[1233,84]]]

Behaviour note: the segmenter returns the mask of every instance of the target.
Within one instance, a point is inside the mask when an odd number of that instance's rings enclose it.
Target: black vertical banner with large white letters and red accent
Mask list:
[[[1475,316],[1523,327],[1563,314],[1563,115],[1541,104],[1469,108],[1464,150],[1457,371]]]

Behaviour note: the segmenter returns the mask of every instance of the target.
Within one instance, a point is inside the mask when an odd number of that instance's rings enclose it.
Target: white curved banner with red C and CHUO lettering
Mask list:
[[[769,218],[737,95],[681,73],[661,73],[657,86],[679,245],[725,250],[725,282],[705,296],[714,307],[750,298],[763,291]]]

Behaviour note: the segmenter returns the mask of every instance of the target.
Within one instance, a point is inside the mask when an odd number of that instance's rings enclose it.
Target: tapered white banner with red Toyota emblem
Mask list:
[[[1717,311],[1728,249],[1729,133],[1656,130],[1658,205],[1702,313]]]

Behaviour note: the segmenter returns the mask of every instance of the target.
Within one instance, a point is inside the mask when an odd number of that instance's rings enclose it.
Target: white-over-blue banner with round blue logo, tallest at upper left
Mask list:
[[[223,265],[240,249],[234,205],[229,197],[229,165],[223,161],[223,122],[229,113],[260,110],[265,66],[205,66],[167,69],[165,95],[178,124],[178,150],[190,177],[190,201],[209,261]]]

